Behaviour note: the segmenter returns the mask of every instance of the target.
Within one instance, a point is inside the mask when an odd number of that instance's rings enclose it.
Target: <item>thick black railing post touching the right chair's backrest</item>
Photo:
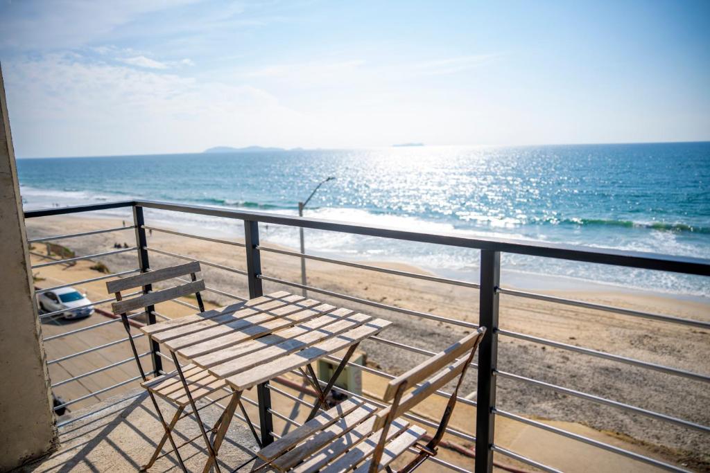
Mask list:
[[[493,430],[496,424],[496,377],[498,360],[498,293],[501,281],[501,252],[481,250],[481,290],[479,324],[486,335],[479,345],[478,385],[476,391],[476,473],[493,471]]]

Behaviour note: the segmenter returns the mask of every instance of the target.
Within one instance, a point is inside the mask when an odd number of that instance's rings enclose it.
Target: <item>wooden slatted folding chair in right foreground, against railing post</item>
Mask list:
[[[418,451],[416,457],[399,471],[412,472],[428,457],[437,455],[456,406],[461,380],[485,332],[484,327],[479,328],[393,379],[384,395],[384,401],[392,401],[391,405],[379,408],[365,400],[349,399],[263,447],[257,453],[261,463],[255,464],[253,471],[271,468],[271,471],[298,473],[353,469],[356,473],[375,473],[381,469],[390,472],[390,464],[414,447]],[[420,445],[417,442],[426,431],[410,425],[401,416],[457,377],[437,432],[426,445]]]

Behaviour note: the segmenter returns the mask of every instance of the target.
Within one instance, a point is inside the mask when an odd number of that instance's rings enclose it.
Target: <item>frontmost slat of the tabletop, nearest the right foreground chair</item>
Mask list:
[[[289,372],[291,369],[305,366],[326,355],[330,355],[331,353],[343,350],[350,345],[359,343],[361,340],[379,333],[391,324],[392,323],[390,321],[377,318],[366,323],[365,325],[349,330],[349,332],[346,332],[343,335],[338,335],[335,338],[317,343],[316,345],[308,347],[300,352],[293,353],[292,355],[288,355],[273,362],[265,363],[259,367],[249,369],[246,372],[235,374],[234,376],[227,378],[226,381],[236,391],[244,391],[245,389],[249,389],[251,386],[256,386],[256,384],[268,381],[269,379],[273,379],[280,374]]]

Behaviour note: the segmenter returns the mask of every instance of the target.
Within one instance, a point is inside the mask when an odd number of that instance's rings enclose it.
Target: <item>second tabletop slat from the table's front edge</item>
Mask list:
[[[318,328],[317,330],[311,330],[310,332],[298,337],[284,340],[277,345],[264,347],[262,350],[250,353],[249,355],[244,355],[236,360],[231,360],[231,362],[226,362],[222,365],[212,367],[209,369],[209,372],[219,378],[241,373],[257,365],[263,365],[264,363],[271,362],[276,358],[285,357],[286,355],[290,355],[298,350],[303,350],[306,347],[315,345],[322,340],[344,333],[346,330],[359,327],[371,319],[372,317],[366,316],[364,313],[356,313],[352,316],[344,318],[341,321],[331,323],[330,325]]]

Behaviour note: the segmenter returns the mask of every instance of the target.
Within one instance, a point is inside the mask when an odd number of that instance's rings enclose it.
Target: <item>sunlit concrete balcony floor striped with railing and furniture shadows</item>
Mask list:
[[[121,398],[128,399],[110,406]],[[160,400],[158,403],[163,416],[168,419],[173,416],[175,410],[172,406]],[[102,408],[103,410],[97,411]],[[148,394],[143,389],[107,399],[72,413],[71,416],[78,418],[92,411],[97,412],[59,429],[60,446],[56,452],[15,471],[129,472],[138,471],[148,462],[155,445],[163,435],[163,428]],[[221,412],[219,406],[212,405],[202,409],[200,416],[205,424],[213,425]],[[200,430],[194,418],[183,418],[178,422],[175,428],[175,442],[178,445],[196,435],[200,435]],[[166,448],[169,450],[170,444],[167,445]],[[219,466],[223,472],[231,471],[249,461],[257,448],[249,428],[242,421],[234,418],[219,450]],[[202,471],[207,460],[202,437],[181,447],[180,454],[187,469],[191,472]],[[251,464],[245,467],[244,471],[249,471],[250,468]],[[150,469],[151,473],[173,471],[180,471],[174,455],[165,455]]]

